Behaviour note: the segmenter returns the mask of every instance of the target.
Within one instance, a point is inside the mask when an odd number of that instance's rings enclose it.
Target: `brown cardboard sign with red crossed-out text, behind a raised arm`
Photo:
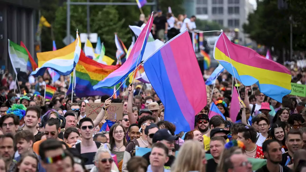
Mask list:
[[[104,103],[86,103],[86,117],[97,118],[103,108]],[[123,103],[111,103],[105,113],[108,120],[122,120]]]

